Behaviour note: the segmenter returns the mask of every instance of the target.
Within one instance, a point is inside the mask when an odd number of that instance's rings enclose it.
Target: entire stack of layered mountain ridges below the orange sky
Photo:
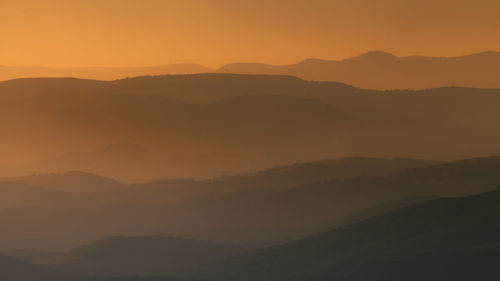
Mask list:
[[[0,67],[216,72],[0,82],[0,281],[500,280],[499,66]]]

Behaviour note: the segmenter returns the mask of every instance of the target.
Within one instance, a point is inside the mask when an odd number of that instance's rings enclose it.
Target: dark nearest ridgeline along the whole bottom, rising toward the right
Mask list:
[[[498,280],[499,222],[500,191],[492,191],[429,200],[243,253],[163,237],[110,237],[59,254],[18,252],[19,259],[43,265],[1,257],[0,276],[21,281]],[[176,277],[147,277],[158,273]]]

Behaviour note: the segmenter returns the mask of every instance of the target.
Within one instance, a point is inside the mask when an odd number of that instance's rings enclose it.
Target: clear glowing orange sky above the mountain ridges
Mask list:
[[[0,65],[145,66],[500,50],[498,0],[0,0]]]

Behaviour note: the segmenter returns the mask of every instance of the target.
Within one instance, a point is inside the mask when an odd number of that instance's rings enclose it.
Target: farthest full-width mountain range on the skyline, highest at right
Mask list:
[[[500,88],[500,52],[461,57],[397,57],[374,51],[345,60],[307,59],[291,65],[232,63],[216,70],[195,64],[142,68],[67,68],[0,66],[0,81],[27,77],[76,77],[114,80],[161,74],[234,73],[292,75],[305,80],[337,81],[366,89],[438,87]]]

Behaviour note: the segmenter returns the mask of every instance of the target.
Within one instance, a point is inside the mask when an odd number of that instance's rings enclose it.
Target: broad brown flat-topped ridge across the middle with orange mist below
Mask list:
[[[0,175],[137,182],[353,155],[490,156],[499,104],[499,90],[379,92],[286,76],[12,80],[0,83]]]

